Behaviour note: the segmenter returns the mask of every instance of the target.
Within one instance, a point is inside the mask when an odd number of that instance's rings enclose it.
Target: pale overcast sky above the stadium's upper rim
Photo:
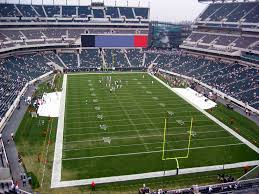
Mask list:
[[[19,0],[0,0],[0,2],[15,2]],[[67,0],[68,4],[89,5],[91,0]],[[103,0],[93,0],[103,1]],[[21,3],[31,3],[31,0],[20,0]],[[42,0],[32,0],[34,4],[41,4]],[[53,4],[53,0],[43,0],[44,4]],[[55,4],[66,4],[66,0],[54,0]],[[106,5],[115,5],[115,0],[104,0]],[[117,5],[148,6],[151,8],[151,19],[179,22],[183,20],[193,21],[206,7],[206,4],[198,3],[198,0],[117,0]]]

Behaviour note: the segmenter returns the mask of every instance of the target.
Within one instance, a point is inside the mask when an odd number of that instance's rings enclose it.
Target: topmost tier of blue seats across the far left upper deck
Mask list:
[[[78,9],[78,13],[77,10]],[[118,19],[121,16],[126,19],[142,19],[149,18],[148,8],[134,8],[134,7],[100,7],[95,8],[91,6],[58,6],[58,5],[20,5],[20,4],[0,4],[0,17],[7,19],[12,17],[16,21],[26,21],[27,18],[105,18],[109,15],[111,19]],[[21,20],[18,18],[21,17]],[[29,20],[28,20],[29,21]],[[49,20],[55,21],[55,20]],[[29,21],[30,22],[30,21]]]

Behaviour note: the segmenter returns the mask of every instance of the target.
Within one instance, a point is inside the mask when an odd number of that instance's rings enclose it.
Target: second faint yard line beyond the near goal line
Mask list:
[[[220,131],[225,131],[225,130],[217,130],[217,131],[204,131],[204,132],[196,132],[196,134],[206,134],[206,133],[217,133]],[[170,136],[178,136],[178,135],[185,135],[188,134],[187,132],[185,133],[172,133],[172,134],[167,134]],[[142,138],[146,138],[146,137],[161,137],[162,135],[142,135]],[[136,136],[130,136],[130,137],[114,137],[112,138],[112,140],[125,140],[125,139],[134,139],[136,138]],[[96,142],[96,141],[103,141],[103,139],[88,139],[88,140],[84,140],[84,141],[65,141],[64,143],[66,144],[71,144],[71,143],[83,143],[83,142]]]

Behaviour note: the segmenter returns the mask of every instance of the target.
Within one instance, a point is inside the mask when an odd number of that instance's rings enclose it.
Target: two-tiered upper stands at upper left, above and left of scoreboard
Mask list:
[[[146,22],[145,27],[140,26],[140,20]],[[49,43],[79,45],[80,41],[77,40],[85,32],[147,34],[148,20],[149,8],[142,7],[0,3],[0,51],[38,47],[39,44],[44,47]],[[98,26],[92,25],[95,22]],[[109,22],[112,25],[108,29],[105,25]],[[124,22],[129,25],[123,25]],[[86,23],[91,27],[85,26]]]

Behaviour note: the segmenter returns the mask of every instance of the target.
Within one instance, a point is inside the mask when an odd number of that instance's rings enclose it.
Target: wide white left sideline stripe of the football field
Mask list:
[[[58,187],[61,181],[67,74],[64,74],[63,76],[62,88],[63,88],[63,91],[60,99],[60,110],[59,110],[59,118],[58,118],[57,134],[56,134],[54,161],[53,161],[53,168],[52,168],[51,188]]]

